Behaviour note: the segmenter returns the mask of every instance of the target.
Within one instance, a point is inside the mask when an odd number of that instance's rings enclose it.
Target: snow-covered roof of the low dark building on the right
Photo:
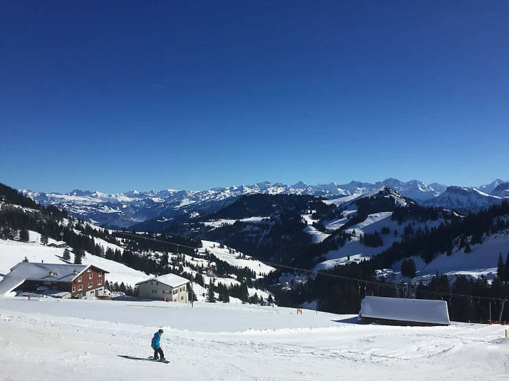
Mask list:
[[[447,302],[428,301],[425,299],[366,296],[361,302],[360,317],[450,325]]]

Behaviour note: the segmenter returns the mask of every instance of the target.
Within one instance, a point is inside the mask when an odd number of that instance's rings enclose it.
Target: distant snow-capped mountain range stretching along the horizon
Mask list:
[[[487,195],[486,192],[494,191],[497,186],[503,185],[503,183],[502,180],[497,179],[488,185],[464,189],[477,189],[479,195],[481,193]],[[476,210],[477,206],[482,207],[481,204],[483,204],[482,202],[466,202],[464,199],[458,199],[457,206],[454,206],[455,200],[451,198],[445,199],[444,204],[440,204],[441,199],[436,199],[436,197],[446,193],[448,189],[446,185],[438,183],[428,185],[417,180],[401,182],[393,178],[375,184],[352,181],[348,184],[331,182],[330,184],[309,185],[298,182],[288,186],[280,182],[260,182],[251,186],[228,186],[203,191],[166,189],[138,192],[132,190],[127,193],[116,194],[90,190],[73,190],[70,193],[38,193],[32,190],[22,190],[22,192],[45,206],[53,205],[65,208],[74,217],[86,219],[94,224],[123,227],[132,226],[149,219],[180,221],[197,215],[213,213],[231,204],[237,197],[254,193],[315,195],[334,199],[360,195],[382,186],[388,186],[401,195],[419,202],[419,204],[426,202],[428,205],[447,208],[468,208],[471,205],[475,206]]]

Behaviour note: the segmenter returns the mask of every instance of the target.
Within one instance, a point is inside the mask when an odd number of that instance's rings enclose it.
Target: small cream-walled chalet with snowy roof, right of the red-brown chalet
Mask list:
[[[138,286],[138,296],[142,299],[187,303],[189,301],[189,283],[182,276],[166,274],[136,285]]]

